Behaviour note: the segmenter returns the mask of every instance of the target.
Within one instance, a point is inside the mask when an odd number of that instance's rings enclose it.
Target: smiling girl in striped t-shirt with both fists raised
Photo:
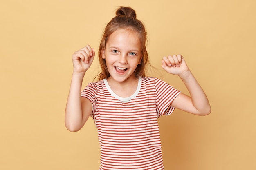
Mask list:
[[[99,46],[102,72],[81,92],[95,51],[90,45],[72,55],[74,71],[65,126],[80,130],[94,119],[101,147],[100,170],[163,170],[157,119],[175,108],[195,115],[211,112],[208,99],[182,55],[163,57],[162,68],[178,75],[190,96],[166,82],[146,77],[147,34],[130,7],[120,7],[107,24]]]

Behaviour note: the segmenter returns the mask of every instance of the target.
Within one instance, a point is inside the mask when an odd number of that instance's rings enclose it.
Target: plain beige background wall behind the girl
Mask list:
[[[255,170],[255,0],[2,0],[0,169],[99,168],[92,119],[79,132],[64,126],[71,55],[98,48],[120,5],[146,25],[153,66],[181,53],[211,103],[206,117],[175,110],[159,119],[165,169]],[[83,87],[98,70],[94,60]],[[178,77],[153,75],[187,93]]]

